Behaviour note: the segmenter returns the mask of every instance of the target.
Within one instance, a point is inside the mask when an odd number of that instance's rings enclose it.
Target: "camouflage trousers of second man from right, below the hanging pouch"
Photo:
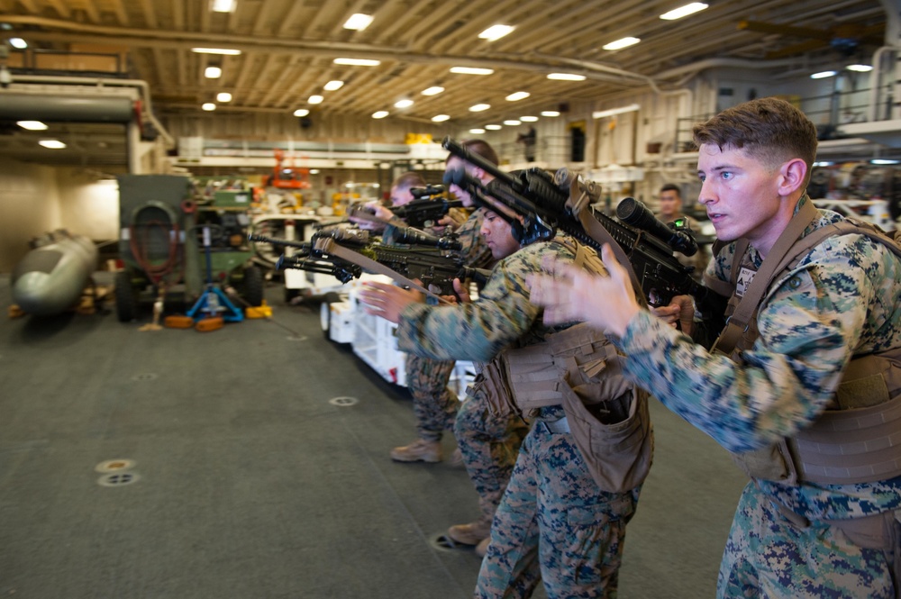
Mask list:
[[[640,489],[605,493],[569,433],[529,432],[491,526],[474,596],[616,597],[626,523]]]

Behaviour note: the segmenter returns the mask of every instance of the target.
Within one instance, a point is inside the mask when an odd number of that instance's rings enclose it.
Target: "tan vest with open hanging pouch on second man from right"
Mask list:
[[[577,266],[604,271],[591,248],[554,242],[574,251]],[[474,389],[482,387],[499,412],[562,405],[597,486],[626,493],[648,476],[654,444],[648,395],[623,377],[622,362],[603,333],[579,323],[541,343],[505,349],[482,370]]]

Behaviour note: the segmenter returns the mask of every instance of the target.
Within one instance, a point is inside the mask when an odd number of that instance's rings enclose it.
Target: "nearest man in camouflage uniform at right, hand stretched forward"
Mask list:
[[[763,257],[778,254],[772,250],[795,222],[803,229],[800,240],[791,239],[798,239],[794,232],[784,239],[803,249],[807,235],[845,220],[816,211],[803,194],[815,135],[813,123],[800,111],[773,98],[740,104],[696,126],[700,201],[714,217],[717,233],[738,240],[708,265],[710,285],[734,278],[736,293],[751,295],[741,284],[743,275],[767,268]],[[813,216],[802,218],[802,211]],[[738,262],[733,259],[742,237],[750,244]],[[762,255],[760,247],[766,248]],[[626,375],[747,466],[751,452],[784,440],[796,443],[808,431],[819,436],[814,447],[850,443],[841,428],[823,429],[824,422],[834,422],[824,421],[827,410],[834,418],[848,409],[843,404],[845,409],[833,409],[842,398],[839,385],[846,368],[852,358],[901,349],[901,260],[886,245],[854,232],[827,237],[805,251],[788,271],[777,269],[775,277],[761,279],[766,293],[750,321],[758,335],[736,346],[740,353],[732,358],[707,351],[648,311],[625,309],[628,286],[618,275],[587,280],[570,273],[569,284],[560,282],[560,272],[556,279],[539,277],[532,280],[532,300],[560,319],[583,316],[619,335],[614,342],[628,355]],[[612,268],[613,257],[605,263]],[[605,294],[609,310],[593,316],[588,298],[598,294]],[[711,319],[714,313],[704,316]],[[892,382],[897,368],[895,362],[876,373],[872,378],[880,387],[861,394],[876,402],[873,407],[881,406],[876,422],[892,422],[887,402],[896,406],[899,401]],[[877,442],[883,449],[897,448],[897,441],[882,431],[868,436],[860,427],[850,430],[857,436],[857,453],[878,449],[868,449]],[[850,454],[836,455],[821,464],[839,465]],[[783,466],[798,464],[782,452],[769,456]],[[800,462],[799,476],[757,476],[745,487],[724,550],[717,596],[901,596],[901,581],[892,574],[893,568],[901,572],[901,476],[879,480],[891,472],[886,468],[864,482],[814,483],[808,476],[812,463]],[[875,528],[869,528],[873,523]]]

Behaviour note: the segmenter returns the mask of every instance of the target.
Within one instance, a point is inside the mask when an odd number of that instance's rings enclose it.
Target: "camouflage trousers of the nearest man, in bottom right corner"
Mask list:
[[[895,516],[901,519],[901,511]],[[898,559],[901,522],[895,527]],[[893,599],[901,589],[892,583],[889,558],[882,550],[861,548],[826,522],[796,527],[751,482],[735,511],[716,596]]]

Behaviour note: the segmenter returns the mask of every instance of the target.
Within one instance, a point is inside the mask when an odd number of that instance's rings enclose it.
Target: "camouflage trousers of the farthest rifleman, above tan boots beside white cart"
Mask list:
[[[454,364],[453,360],[407,354],[406,387],[413,396],[413,413],[420,439],[441,440],[444,431],[453,429],[460,408],[457,395],[448,388]]]

